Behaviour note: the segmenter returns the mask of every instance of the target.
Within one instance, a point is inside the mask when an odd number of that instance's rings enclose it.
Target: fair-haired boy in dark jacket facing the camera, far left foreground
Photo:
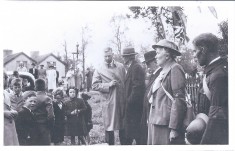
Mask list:
[[[19,110],[16,118],[16,131],[20,145],[32,145],[35,121],[33,110],[35,108],[36,93],[34,91],[26,91],[23,94],[24,105]]]

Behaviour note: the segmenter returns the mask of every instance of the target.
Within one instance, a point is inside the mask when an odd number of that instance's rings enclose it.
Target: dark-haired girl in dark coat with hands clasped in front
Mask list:
[[[86,144],[84,136],[87,134],[84,120],[86,105],[81,98],[77,98],[77,89],[67,90],[69,100],[65,102],[65,115],[67,116],[68,136],[71,136],[71,144],[75,145],[75,136],[78,136],[78,144]]]

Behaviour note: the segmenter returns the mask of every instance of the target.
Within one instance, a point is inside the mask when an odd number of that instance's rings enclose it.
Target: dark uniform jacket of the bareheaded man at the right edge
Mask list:
[[[209,121],[201,144],[228,144],[228,62],[220,58],[205,68],[211,92]]]

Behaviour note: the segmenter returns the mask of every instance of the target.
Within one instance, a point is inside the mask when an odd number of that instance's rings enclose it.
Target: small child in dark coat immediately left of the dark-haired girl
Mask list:
[[[59,145],[64,141],[65,111],[63,90],[57,88],[54,92],[53,109],[55,123],[51,132],[51,142]]]

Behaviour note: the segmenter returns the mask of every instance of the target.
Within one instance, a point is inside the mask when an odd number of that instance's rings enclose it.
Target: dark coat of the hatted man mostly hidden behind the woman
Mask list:
[[[148,100],[148,93],[149,90],[151,89],[151,86],[154,82],[154,80],[158,77],[159,73],[162,71],[162,69],[158,69],[156,73],[152,74],[150,76],[149,82],[146,85],[146,91],[144,94],[144,102],[143,102],[143,114],[141,117],[141,144],[142,145],[147,145],[147,138],[148,138],[148,125],[147,125],[147,120],[149,117],[149,108],[150,108],[150,103]]]

